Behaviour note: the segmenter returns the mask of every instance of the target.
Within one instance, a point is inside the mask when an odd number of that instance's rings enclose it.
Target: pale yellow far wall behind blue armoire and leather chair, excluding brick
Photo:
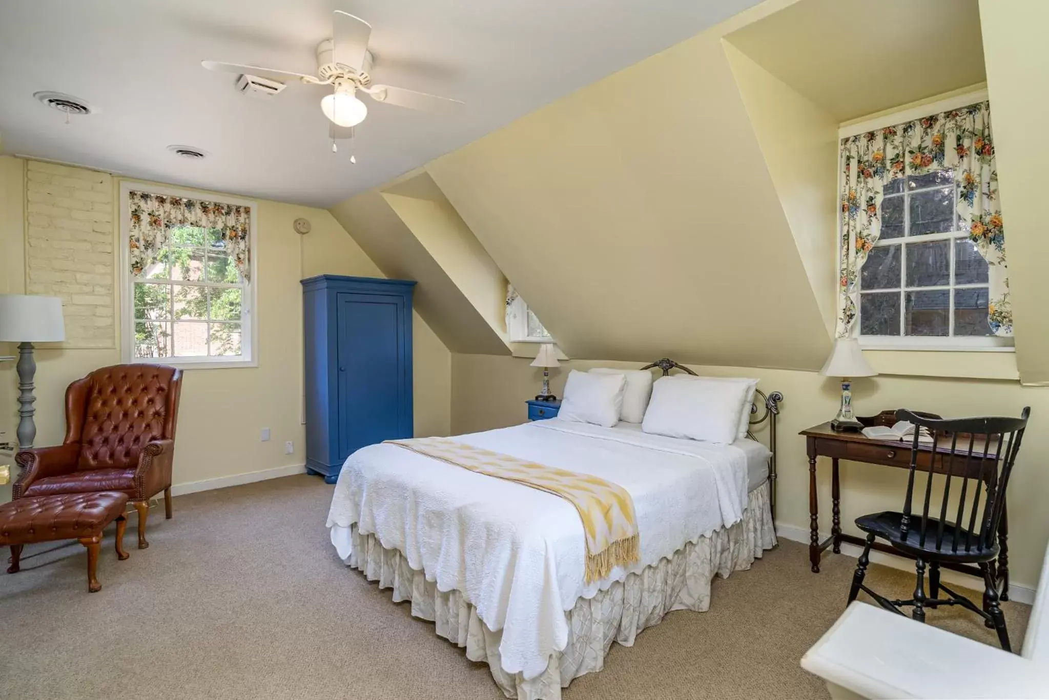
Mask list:
[[[0,192],[20,192],[21,163],[0,157]],[[114,186],[115,187],[115,186]],[[0,204],[21,195],[5,195]],[[115,196],[115,195],[114,195]],[[306,217],[313,231],[300,236],[292,228]],[[20,217],[18,217],[20,218]],[[7,211],[0,213],[0,252],[4,260],[23,259],[23,228]],[[324,210],[260,200],[256,242],[259,326],[258,367],[188,369],[185,373],[174,483],[302,464],[305,460],[302,425],[302,292],[299,280],[317,274],[382,276],[374,263]],[[114,240],[117,231],[113,231]],[[3,264],[7,264],[4,262]],[[3,291],[21,292],[16,274],[3,281]],[[119,310],[117,299],[117,310]],[[451,367],[448,349],[418,316],[413,319],[414,396],[416,434],[449,431]],[[13,346],[0,344],[0,354]],[[62,410],[65,387],[88,372],[121,361],[120,351],[39,349],[37,352],[37,441],[50,445],[65,430]],[[12,363],[0,365],[4,398],[0,423],[14,425],[17,384]],[[259,440],[263,427],[270,442]],[[284,454],[284,442],[295,453]],[[0,499],[9,497],[0,492]]]

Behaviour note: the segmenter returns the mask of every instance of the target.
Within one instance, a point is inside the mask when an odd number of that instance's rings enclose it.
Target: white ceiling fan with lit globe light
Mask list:
[[[221,61],[201,61],[200,65],[209,70],[257,76],[281,84],[294,80],[325,88],[331,86],[330,94],[321,100],[321,110],[331,121],[329,135],[333,140],[351,137],[354,127],[367,116],[368,107],[357,97],[358,91],[376,102],[428,112],[449,112],[463,106],[458,100],[392,85],[372,84],[368,75],[372,63],[371,52],[368,51],[371,25],[359,17],[337,9],[333,27],[333,38],[325,39],[317,46],[317,76]]]

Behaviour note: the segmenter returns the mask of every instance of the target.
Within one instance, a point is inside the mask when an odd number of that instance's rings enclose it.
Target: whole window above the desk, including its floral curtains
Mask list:
[[[837,335],[866,347],[1008,349],[990,105],[969,94],[933,108],[842,129]]]

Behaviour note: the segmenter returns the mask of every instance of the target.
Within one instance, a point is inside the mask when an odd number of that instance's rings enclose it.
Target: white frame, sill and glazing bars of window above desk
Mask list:
[[[902,124],[904,122],[911,122],[916,119],[921,119],[922,116],[927,116],[929,114],[936,114],[942,111],[948,111],[950,109],[957,109],[959,107],[965,107],[977,102],[982,102],[987,100],[987,90],[981,89],[973,92],[966,92],[964,94],[957,94],[950,98],[945,98],[937,102],[927,103],[924,105],[919,105],[916,107],[909,107],[907,109],[895,111],[893,113],[881,114],[879,116],[864,120],[861,122],[852,122],[851,124],[842,125],[838,129],[838,142],[841,139],[848,136],[854,136],[860,133],[866,133],[868,131],[874,131],[881,129],[886,126],[894,126],[896,124]],[[840,152],[838,154],[838,196],[841,192],[841,176],[842,168],[840,162]],[[921,188],[920,190],[905,190],[907,193],[922,192],[927,190],[940,189],[943,186],[930,186],[928,188]],[[896,196],[896,195],[894,195]],[[901,194],[898,196],[906,196],[906,194]],[[905,230],[909,229],[911,212],[908,207],[904,207],[904,221]],[[956,216],[957,220],[957,216]],[[841,216],[837,216],[837,240],[841,240]],[[903,236],[902,238],[887,238],[885,240],[879,239],[875,243],[876,248],[882,248],[886,246],[904,246],[906,242],[932,242],[935,240],[958,240],[962,237],[960,231],[948,231],[944,233],[933,233],[923,236]],[[837,250],[837,247],[836,247]],[[906,248],[905,246],[900,250],[900,274],[905,274],[906,267]],[[837,279],[841,278],[841,256],[840,250],[838,250],[837,260],[835,263],[835,270],[837,272]],[[937,287],[921,287],[921,288],[909,288],[902,287],[900,289],[900,295],[904,295],[908,291],[923,291],[933,292],[937,290],[950,290],[950,289],[965,289],[965,288],[979,288],[987,287],[986,284],[952,284],[955,275],[955,250],[951,246],[950,252],[950,280],[949,285],[937,285]],[[859,280],[857,280],[859,283]],[[862,290],[861,290],[862,291]],[[892,291],[892,290],[886,290]],[[901,335],[899,336],[863,336],[860,335],[860,309],[857,304],[856,309],[856,320],[853,323],[853,328],[850,335],[859,340],[860,347],[864,349],[881,349],[881,351],[947,351],[947,352],[980,352],[980,353],[1012,353],[1014,352],[1013,339],[1012,338],[1001,338],[998,336],[904,336],[902,335],[902,323],[905,317],[905,310],[902,305],[900,306],[900,322],[901,322]],[[950,309],[948,312],[949,324],[951,331],[954,331],[955,324],[955,295],[950,295]]]

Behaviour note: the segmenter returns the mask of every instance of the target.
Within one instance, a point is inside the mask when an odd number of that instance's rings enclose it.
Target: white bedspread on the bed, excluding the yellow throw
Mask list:
[[[339,555],[349,558],[351,524],[373,533],[438,590],[464,593],[490,630],[502,630],[500,664],[526,678],[566,645],[564,613],[578,598],[733,525],[747,505],[747,458],[731,445],[556,419],[455,439],[601,476],[634,500],[641,560],[587,586],[582,524],[569,502],[393,445],[346,460],[327,519]]]

